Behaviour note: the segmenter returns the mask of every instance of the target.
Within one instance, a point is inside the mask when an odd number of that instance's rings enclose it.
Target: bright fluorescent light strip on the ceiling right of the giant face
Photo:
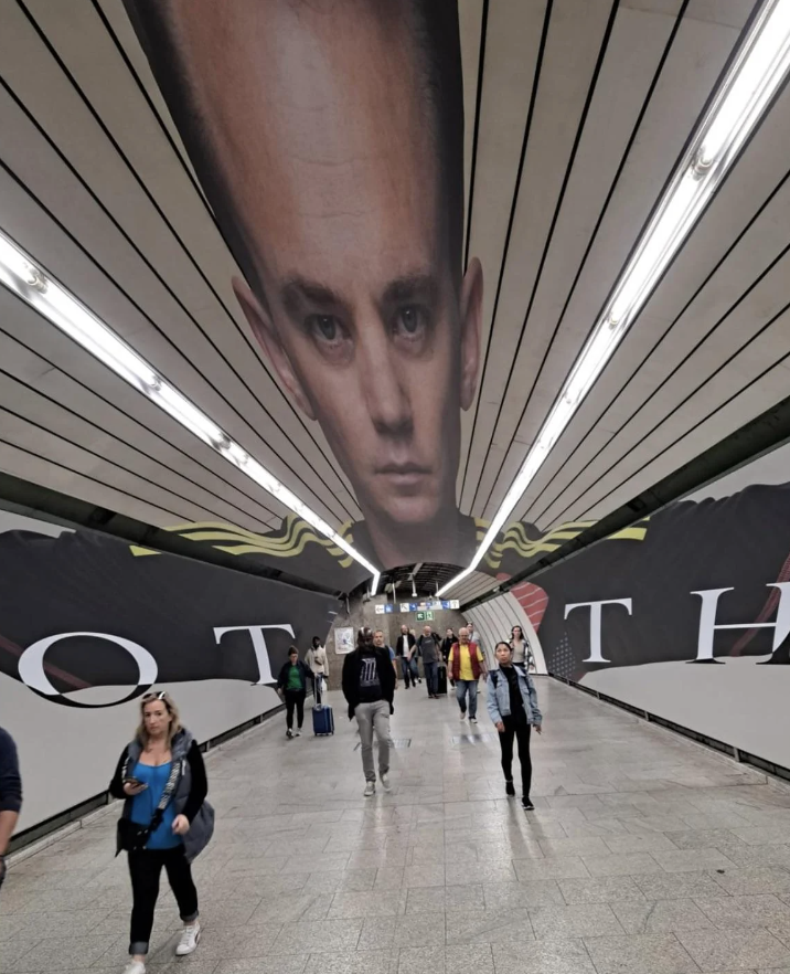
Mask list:
[[[642,234],[606,311],[576,359],[471,564],[444,585],[438,595],[468,578],[482,561],[707,205],[789,66],[790,0],[769,0]]]

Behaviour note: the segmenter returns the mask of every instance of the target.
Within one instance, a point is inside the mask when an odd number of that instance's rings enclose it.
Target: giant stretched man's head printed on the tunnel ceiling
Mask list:
[[[453,560],[482,300],[480,265],[461,268],[455,2],[127,7],[250,285],[241,306],[376,555]]]

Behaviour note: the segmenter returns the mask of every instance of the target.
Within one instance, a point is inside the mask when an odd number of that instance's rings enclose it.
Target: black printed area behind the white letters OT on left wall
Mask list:
[[[92,687],[122,688],[121,702],[154,684],[271,685],[335,605],[89,531],[0,533],[0,673],[55,703],[95,706],[74,692]]]

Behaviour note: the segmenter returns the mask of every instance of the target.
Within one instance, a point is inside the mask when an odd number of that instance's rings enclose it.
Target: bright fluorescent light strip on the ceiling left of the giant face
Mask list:
[[[205,413],[132,351],[118,336],[81,304],[63,285],[36,266],[34,261],[0,231],[0,283],[19,295],[49,321],[73,338],[86,351],[120,375],[130,385],[148,396],[177,422],[216,451],[228,463],[238,467],[264,490],[317,531],[341,548],[373,575],[372,591],[378,587],[381,572],[356,549],[334,531],[323,518],[311,510],[296,494],[249,456],[224,433]]]

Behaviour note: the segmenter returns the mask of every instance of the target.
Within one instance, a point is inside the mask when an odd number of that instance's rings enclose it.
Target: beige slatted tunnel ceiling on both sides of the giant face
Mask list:
[[[465,260],[480,258],[484,298],[457,490],[490,519],[751,8],[459,12]],[[0,227],[331,527],[359,520],[239,310],[238,269],[121,2],[6,0],[0,75]],[[514,518],[600,518],[787,395],[789,144],[783,91]],[[0,469],[154,526],[257,532],[287,514],[3,288]]]

